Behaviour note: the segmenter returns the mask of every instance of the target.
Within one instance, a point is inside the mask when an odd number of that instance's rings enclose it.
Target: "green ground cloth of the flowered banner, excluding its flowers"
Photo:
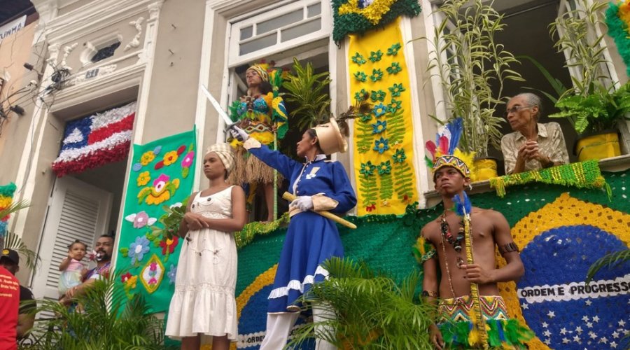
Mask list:
[[[161,148],[161,149],[158,149]],[[183,150],[183,151],[181,151]],[[146,165],[141,165],[141,158],[143,155],[153,151],[155,157]],[[156,152],[158,151],[158,152]],[[179,153],[177,159],[172,157],[175,153]],[[123,214],[123,223],[120,229],[120,238],[118,252],[116,256],[116,270],[123,273],[123,278],[129,279],[130,277],[136,277],[137,282],[135,286],[132,283],[123,281],[116,281],[119,288],[125,288],[127,295],[134,293],[141,293],[143,295],[151,310],[153,312],[165,311],[169,307],[171,296],[174,292],[174,283],[171,283],[168,272],[172,268],[176,267],[179,258],[179,248],[182,244],[182,240],[177,240],[177,246],[174,251],[170,252],[170,246],[160,246],[167,243],[165,237],[153,237],[151,235],[151,229],[149,225],[137,228],[134,227],[133,220],[130,221],[130,215],[138,214],[144,211],[148,218],[159,218],[165,213],[163,207],[171,206],[178,202],[182,202],[192,192],[193,188],[193,174],[195,174],[196,165],[196,146],[195,146],[195,130],[190,132],[183,132],[170,137],[165,137],[157,141],[153,141],[145,145],[134,145],[132,170],[129,174],[129,181],[127,183],[127,193],[125,194],[125,210]],[[190,155],[193,152],[193,158],[187,158],[186,155]],[[170,158],[165,162],[165,158]],[[173,161],[174,160],[174,161]],[[173,161],[171,163],[171,161]],[[168,164],[171,163],[171,164]],[[161,167],[160,167],[161,165]],[[188,165],[188,167],[186,166]],[[158,168],[158,169],[156,169]],[[144,172],[150,174],[151,179],[146,184],[139,184],[139,176]],[[155,186],[158,189],[162,188],[162,184],[155,183],[159,181],[160,176],[169,176],[167,181],[164,181],[164,190],[169,191],[169,199],[160,203],[155,203]],[[162,180],[166,178],[162,177]],[[179,186],[176,186],[176,182],[179,181]],[[164,192],[160,192],[162,194]],[[159,202],[159,200],[158,200]],[[151,204],[150,204],[151,203]],[[136,226],[139,226],[136,224]],[[137,241],[148,241],[148,252],[144,253],[141,260],[139,256],[134,254],[134,244]],[[174,245],[174,244],[173,244]],[[135,258],[134,258],[135,257]],[[149,260],[152,257],[160,260],[163,267],[160,267],[160,263],[155,263],[154,267],[156,271],[151,271]],[[151,276],[148,276],[144,283],[141,283],[142,271],[146,268],[146,275],[155,274],[157,277],[155,281],[159,283],[150,283]],[[162,269],[162,278],[160,279],[160,272]],[[126,277],[125,277],[126,274]]]

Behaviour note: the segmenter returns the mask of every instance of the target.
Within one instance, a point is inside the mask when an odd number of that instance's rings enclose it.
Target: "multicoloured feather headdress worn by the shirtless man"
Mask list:
[[[463,120],[456,118],[437,132],[435,142],[426,142],[424,160],[433,174],[442,167],[454,167],[463,176],[474,181],[472,176],[475,172],[472,171],[471,166],[475,153],[464,153],[457,148],[462,132]]]

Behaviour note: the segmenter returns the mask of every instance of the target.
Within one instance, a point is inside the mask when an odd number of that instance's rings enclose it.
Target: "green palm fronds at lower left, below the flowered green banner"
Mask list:
[[[134,277],[116,272],[95,281],[85,294],[75,298],[83,312],[57,300],[38,300],[34,312],[55,317],[36,319],[31,332],[33,344],[20,349],[173,349],[164,345],[164,321],[153,314],[144,297],[134,294],[128,298],[125,288],[114,287],[116,280],[124,280],[126,286]]]

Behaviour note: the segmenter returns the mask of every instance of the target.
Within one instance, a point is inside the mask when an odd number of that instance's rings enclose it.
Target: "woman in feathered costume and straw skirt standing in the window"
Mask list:
[[[253,64],[246,73],[247,94],[230,106],[230,117],[237,120],[239,127],[248,136],[261,144],[276,149],[277,141],[283,139],[288,130],[288,118],[278,89],[282,84],[281,70],[265,69],[268,64]],[[236,150],[235,169],[230,174],[230,183],[249,184],[247,203],[253,202],[256,186],[262,185],[267,205],[267,221],[276,218],[276,191],[278,180],[274,169],[251,157],[243,148],[243,143],[233,139],[230,144]],[[275,181],[275,182],[274,182]]]

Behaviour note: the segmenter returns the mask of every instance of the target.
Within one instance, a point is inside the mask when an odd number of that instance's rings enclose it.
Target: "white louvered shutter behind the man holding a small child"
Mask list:
[[[111,193],[77,179],[57,179],[39,246],[42,265],[33,277],[35,297],[57,299],[58,267],[69,244],[79,239],[92,250],[97,237],[106,232],[111,200]]]

